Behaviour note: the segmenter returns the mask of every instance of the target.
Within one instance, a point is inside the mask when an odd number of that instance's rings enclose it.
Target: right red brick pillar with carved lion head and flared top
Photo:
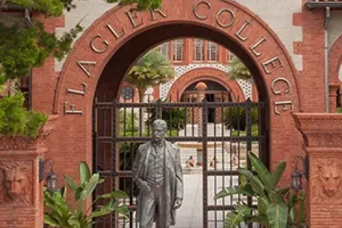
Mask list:
[[[309,155],[307,222],[310,228],[342,224],[342,114],[293,114]]]

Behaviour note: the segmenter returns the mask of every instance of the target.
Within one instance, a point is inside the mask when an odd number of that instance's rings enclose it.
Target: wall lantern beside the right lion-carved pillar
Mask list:
[[[298,169],[298,164],[300,163],[302,164],[302,172]],[[302,189],[302,176],[305,176],[305,179],[309,179],[309,156],[295,156],[293,159],[293,166],[295,169],[291,173],[291,188],[298,191]]]

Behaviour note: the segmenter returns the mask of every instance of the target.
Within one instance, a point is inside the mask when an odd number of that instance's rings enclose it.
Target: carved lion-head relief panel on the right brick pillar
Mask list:
[[[341,201],[342,164],[336,158],[311,159],[314,203]],[[338,202],[336,202],[338,201]]]

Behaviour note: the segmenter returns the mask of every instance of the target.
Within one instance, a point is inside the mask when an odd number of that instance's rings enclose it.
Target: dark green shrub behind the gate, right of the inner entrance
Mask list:
[[[226,107],[223,110],[225,128],[232,127],[235,130],[246,130],[246,108],[244,107]],[[258,124],[259,112],[257,108],[251,109],[252,124]]]

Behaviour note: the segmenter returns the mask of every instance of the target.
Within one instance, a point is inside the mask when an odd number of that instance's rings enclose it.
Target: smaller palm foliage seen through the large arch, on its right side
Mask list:
[[[252,74],[249,72],[249,69],[239,58],[234,56],[229,65],[229,78],[231,80],[242,79],[248,80],[249,82],[253,81]]]

